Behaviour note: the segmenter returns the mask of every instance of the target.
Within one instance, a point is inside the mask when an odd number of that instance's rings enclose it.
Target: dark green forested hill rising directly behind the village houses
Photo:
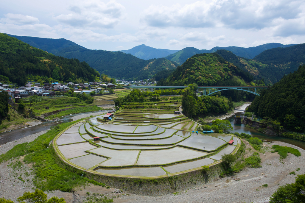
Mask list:
[[[66,59],[34,48],[15,37],[0,33],[0,75],[20,86],[25,85],[30,75],[45,80],[68,82],[77,78],[86,81],[99,77],[99,73],[88,63],[77,59]],[[47,78],[45,78],[47,77]]]

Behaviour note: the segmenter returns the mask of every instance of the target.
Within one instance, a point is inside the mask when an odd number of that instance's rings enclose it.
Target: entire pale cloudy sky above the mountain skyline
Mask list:
[[[2,0],[0,32],[109,51],[300,44],[305,0]]]

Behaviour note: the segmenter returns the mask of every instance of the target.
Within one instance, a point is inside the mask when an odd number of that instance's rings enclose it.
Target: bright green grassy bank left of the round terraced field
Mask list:
[[[105,186],[103,183],[88,179],[85,175],[82,176],[80,173],[83,172],[81,171],[76,169],[69,171],[59,166],[59,157],[56,155],[52,145],[47,148],[49,142],[60,131],[76,122],[59,124],[51,127],[51,130],[30,143],[17,144],[5,154],[0,155],[0,163],[25,155],[23,161],[27,164],[33,164],[32,167],[35,173],[33,183],[43,191],[61,190],[70,192],[74,188],[86,186],[88,183]],[[13,164],[13,167],[18,168],[19,165],[20,163],[17,161]]]

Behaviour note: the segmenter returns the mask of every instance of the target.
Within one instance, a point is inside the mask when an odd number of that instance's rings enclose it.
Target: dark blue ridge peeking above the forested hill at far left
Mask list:
[[[15,37],[33,47],[38,49],[42,49],[48,53],[56,55],[60,50],[67,47],[76,46],[80,49],[86,49],[81,45],[74,43],[73,41],[66,40],[64,38],[61,39],[49,39],[49,38],[40,38],[40,37],[26,37],[26,36],[16,36],[7,34],[10,37]]]

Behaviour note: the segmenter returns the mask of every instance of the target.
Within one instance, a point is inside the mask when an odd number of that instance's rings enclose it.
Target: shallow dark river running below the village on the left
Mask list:
[[[102,114],[102,113],[108,112],[108,110],[107,111],[97,111],[97,112],[100,112]],[[74,116],[77,116],[77,115],[88,114],[87,117],[89,117],[90,114],[97,113],[97,112],[77,113],[77,114],[72,114],[72,115],[68,115],[68,116],[62,116],[62,117],[59,117],[61,119],[59,121],[45,121],[36,126],[19,128],[16,130],[5,132],[5,133],[0,134],[0,144],[5,144],[5,143],[8,143],[8,142],[11,142],[14,140],[18,140],[24,136],[35,134],[35,133],[41,132],[43,130],[48,130],[48,129],[50,129],[51,126],[55,126],[60,123],[71,122],[71,121],[73,121],[73,119],[71,119],[71,118]]]

